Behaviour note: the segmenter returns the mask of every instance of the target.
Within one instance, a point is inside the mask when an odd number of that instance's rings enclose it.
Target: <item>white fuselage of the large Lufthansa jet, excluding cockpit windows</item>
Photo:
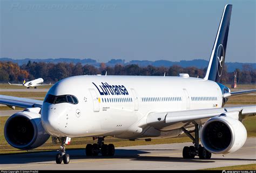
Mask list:
[[[219,108],[223,99],[216,82],[184,77],[82,75],[60,80],[48,94],[70,94],[78,99],[77,104],[43,103],[42,124],[52,136],[127,139],[177,136],[184,124],[150,129],[147,115]]]

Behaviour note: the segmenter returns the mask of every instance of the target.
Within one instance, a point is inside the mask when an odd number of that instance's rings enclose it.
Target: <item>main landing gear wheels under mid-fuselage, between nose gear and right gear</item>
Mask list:
[[[113,156],[114,155],[114,145],[104,144],[104,137],[98,137],[98,142],[94,144],[87,144],[85,148],[86,156],[98,156],[99,153],[102,156]]]

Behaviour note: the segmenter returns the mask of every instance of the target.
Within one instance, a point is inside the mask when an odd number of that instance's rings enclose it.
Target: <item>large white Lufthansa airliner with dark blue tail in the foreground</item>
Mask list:
[[[26,108],[6,121],[4,135],[18,149],[37,148],[52,136],[61,143],[56,163],[69,163],[65,144],[72,137],[94,137],[86,155],[113,156],[105,136],[122,139],[174,137],[185,133],[194,145],[183,157],[210,159],[211,153],[240,149],[247,138],[241,123],[256,106],[225,108],[228,98],[256,92],[231,92],[223,74],[232,5],[226,5],[204,79],[180,77],[80,75],[53,85],[44,101],[0,95],[0,103]],[[192,133],[194,132],[194,136]],[[199,138],[201,144],[199,143]]]

